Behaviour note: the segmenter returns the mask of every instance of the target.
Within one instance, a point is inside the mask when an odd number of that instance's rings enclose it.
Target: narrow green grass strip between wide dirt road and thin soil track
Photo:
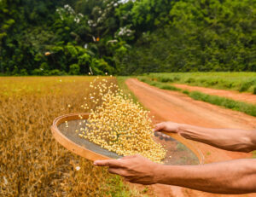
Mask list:
[[[155,87],[158,87],[160,89],[179,91],[195,100],[206,101],[214,105],[226,107],[226,108],[240,111],[242,113],[247,113],[248,115],[256,117],[256,105],[253,105],[253,104],[248,104],[241,101],[234,101],[232,99],[227,99],[221,96],[211,96],[198,91],[188,91],[188,90],[178,89],[170,84],[153,81],[152,79],[147,77],[138,77],[138,79],[147,84],[154,85]]]

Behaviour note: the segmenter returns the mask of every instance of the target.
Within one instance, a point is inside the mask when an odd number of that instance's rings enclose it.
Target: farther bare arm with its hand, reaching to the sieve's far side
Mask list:
[[[197,142],[230,151],[256,150],[256,130],[208,129],[199,126],[163,122],[155,125],[155,131],[166,130]]]

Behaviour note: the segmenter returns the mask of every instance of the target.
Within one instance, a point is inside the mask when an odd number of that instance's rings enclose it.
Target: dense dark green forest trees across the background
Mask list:
[[[256,0],[0,0],[7,75],[256,71]]]

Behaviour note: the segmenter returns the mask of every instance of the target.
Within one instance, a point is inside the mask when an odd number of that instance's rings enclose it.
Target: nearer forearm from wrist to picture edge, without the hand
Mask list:
[[[156,183],[218,194],[256,192],[256,159],[237,159],[207,165],[159,165]]]

